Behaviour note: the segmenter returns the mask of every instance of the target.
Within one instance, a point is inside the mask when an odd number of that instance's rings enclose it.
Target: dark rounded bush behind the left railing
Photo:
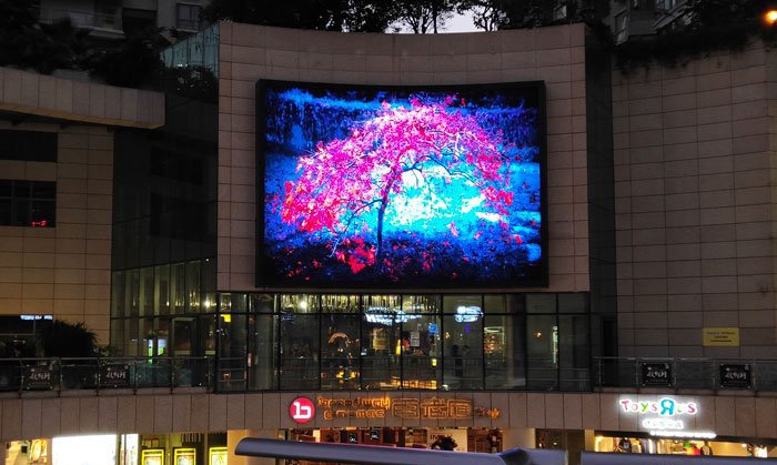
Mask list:
[[[94,357],[98,355],[97,334],[82,322],[54,320],[38,334],[38,345],[44,357]]]

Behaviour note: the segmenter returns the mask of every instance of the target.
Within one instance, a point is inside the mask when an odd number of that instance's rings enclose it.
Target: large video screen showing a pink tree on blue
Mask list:
[[[544,285],[544,87],[262,80],[258,286]]]

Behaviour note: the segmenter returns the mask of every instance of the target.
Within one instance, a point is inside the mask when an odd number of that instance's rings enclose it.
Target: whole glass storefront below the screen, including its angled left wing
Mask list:
[[[218,294],[212,274],[113,272],[111,344],[214,360],[223,392],[589,388],[587,293]]]

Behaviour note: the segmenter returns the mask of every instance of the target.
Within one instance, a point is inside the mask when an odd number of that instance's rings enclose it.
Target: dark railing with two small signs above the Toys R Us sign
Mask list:
[[[596,357],[595,390],[777,392],[777,360]]]

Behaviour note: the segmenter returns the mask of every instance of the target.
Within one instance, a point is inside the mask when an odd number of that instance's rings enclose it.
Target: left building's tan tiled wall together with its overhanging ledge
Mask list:
[[[108,343],[113,133],[164,124],[158,92],[0,68],[0,129],[58,134],[57,162],[2,160],[0,178],[57,182],[57,226],[0,226],[0,314],[84,322]]]

